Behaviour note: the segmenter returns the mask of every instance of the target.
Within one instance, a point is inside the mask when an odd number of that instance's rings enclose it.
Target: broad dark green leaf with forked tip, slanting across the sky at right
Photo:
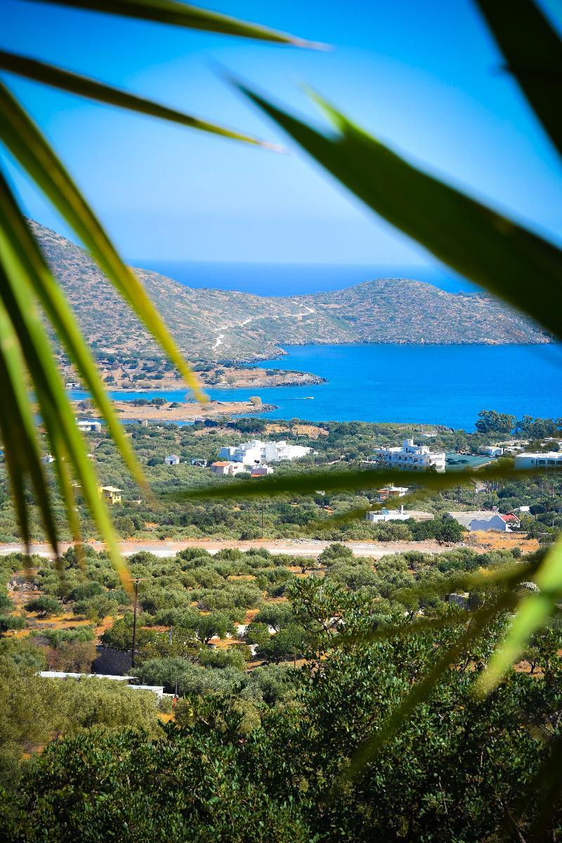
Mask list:
[[[237,86],[388,223],[562,338],[562,252],[553,244],[408,164],[319,97],[333,134]]]

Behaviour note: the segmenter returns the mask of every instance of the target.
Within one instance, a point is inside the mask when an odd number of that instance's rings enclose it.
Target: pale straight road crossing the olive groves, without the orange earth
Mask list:
[[[104,545],[101,542],[90,543],[95,550],[103,550]],[[186,540],[186,541],[124,541],[120,544],[120,551],[123,556],[132,556],[134,553],[139,553],[141,550],[147,550],[155,556],[174,556],[179,550],[185,550],[187,547],[201,547],[208,550],[209,553],[218,553],[224,548],[238,548],[238,550],[249,550],[252,547],[265,547],[271,553],[286,553],[288,556],[318,556],[325,547],[328,547],[329,541],[316,540],[255,540],[255,541],[236,541],[236,540]],[[342,544],[350,547],[355,556],[370,556],[374,559],[380,559],[381,556],[386,556],[389,553],[401,553],[405,550],[421,550],[424,553],[443,553],[446,550],[451,550],[451,546],[438,545],[435,541],[423,542],[368,542],[368,541],[345,541]],[[69,545],[60,545],[60,552],[67,550]],[[459,545],[456,545],[459,546]],[[462,545],[461,545],[462,546]],[[484,550],[482,548],[481,550]],[[23,552],[23,545],[0,545],[0,556],[6,556],[8,553]],[[49,545],[32,545],[32,552],[38,556],[52,557],[54,556]]]

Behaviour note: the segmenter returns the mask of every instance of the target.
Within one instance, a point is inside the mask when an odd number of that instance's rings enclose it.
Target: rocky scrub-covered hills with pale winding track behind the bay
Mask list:
[[[30,222],[56,278],[99,353],[155,356],[158,348],[88,253]],[[191,289],[136,269],[185,356],[250,361],[308,343],[544,343],[538,328],[484,294],[445,293],[417,281],[383,278],[332,293],[273,298]]]

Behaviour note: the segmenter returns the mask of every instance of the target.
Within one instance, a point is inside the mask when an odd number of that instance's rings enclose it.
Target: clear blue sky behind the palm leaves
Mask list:
[[[556,5],[543,8],[554,15]],[[410,160],[559,241],[559,164],[499,71],[500,56],[468,0],[212,0],[208,7],[334,49],[268,46],[21,0],[0,0],[0,47],[272,141],[285,138],[212,62],[318,120],[302,92],[308,83]],[[3,79],[129,258],[431,263],[297,149],[267,153]],[[25,211],[66,232],[10,169]]]

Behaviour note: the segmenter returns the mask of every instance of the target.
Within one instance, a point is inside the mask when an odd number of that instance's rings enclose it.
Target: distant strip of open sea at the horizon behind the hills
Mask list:
[[[131,266],[158,272],[185,287],[238,290],[256,296],[297,296],[343,290],[374,278],[409,278],[447,293],[478,293],[479,287],[439,266],[384,264],[245,263],[133,258]]]

